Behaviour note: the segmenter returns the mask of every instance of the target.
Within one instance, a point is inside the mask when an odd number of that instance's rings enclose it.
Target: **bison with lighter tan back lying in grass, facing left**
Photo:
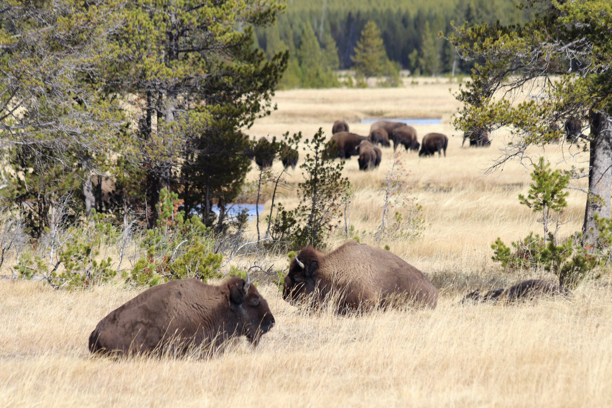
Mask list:
[[[370,309],[397,297],[436,308],[438,290],[427,276],[386,249],[349,241],[328,254],[312,246],[291,260],[283,299],[296,304],[337,302],[338,311]]]

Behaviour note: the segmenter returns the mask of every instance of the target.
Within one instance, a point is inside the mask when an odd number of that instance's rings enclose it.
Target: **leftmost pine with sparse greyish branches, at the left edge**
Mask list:
[[[118,7],[18,0],[0,10],[0,132],[7,148],[0,165],[22,175],[0,191],[11,206],[29,203],[20,208],[35,236],[50,227],[61,197],[72,197],[78,216],[83,192],[89,216],[89,173],[118,147],[114,134],[125,121],[104,80],[113,61],[106,39],[121,24]]]

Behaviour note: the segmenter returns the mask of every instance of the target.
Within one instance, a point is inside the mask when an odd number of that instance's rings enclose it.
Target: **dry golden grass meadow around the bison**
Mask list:
[[[70,292],[5,279],[0,406],[611,406],[612,287],[606,271],[581,284],[570,299],[457,305],[470,289],[528,278],[556,283],[556,278],[544,271],[504,272],[491,260],[490,245],[498,236],[509,243],[542,230],[537,214],[518,202],[518,194],[529,188],[531,169],[513,162],[485,173],[507,142],[504,131],[489,148],[461,148],[462,138],[449,124],[459,107],[449,88],[458,85],[431,78],[418,82],[390,89],[279,91],[278,110],[246,133],[301,131],[309,137],[323,127],[329,135],[333,121],[345,119],[351,131],[367,134],[370,125],[360,119],[442,118],[438,125],[414,127],[419,140],[428,132],[448,135],[446,157],[400,153],[412,184],[408,194],[423,208],[426,228],[420,238],[376,242],[373,235],[381,222],[380,190],[392,148],[383,148],[375,170],[360,171],[355,157],[343,170],[355,189],[351,224],[364,232],[362,243],[387,244],[424,271],[441,292],[438,308],[307,314],[259,276],[259,292],[277,325],[255,349],[239,341],[212,358],[116,361],[89,356],[89,333],[141,289],[117,283]],[[588,160],[584,153],[570,154],[575,152],[566,145],[529,153],[561,168]],[[280,168],[275,164],[273,170]],[[248,178],[257,176],[254,169]],[[299,183],[299,168],[289,170],[288,179]],[[297,204],[294,189],[282,193],[277,200],[287,208]],[[580,230],[584,202],[582,192],[570,191],[561,236]],[[347,239],[335,231],[328,246]],[[282,255],[267,257],[278,269],[286,267]]]

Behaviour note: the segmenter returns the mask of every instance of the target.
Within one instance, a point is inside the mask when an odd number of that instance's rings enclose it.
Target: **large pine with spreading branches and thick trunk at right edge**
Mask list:
[[[537,0],[528,2],[526,11],[534,18],[525,25],[466,23],[456,28],[451,40],[463,59],[480,63],[456,95],[464,107],[453,126],[464,132],[509,127],[511,139],[496,168],[528,157],[531,145],[558,143],[558,123],[588,119],[591,133],[573,143],[590,150],[583,174],[588,172],[589,189],[582,232],[585,241],[595,243],[595,215],[609,218],[612,201],[612,4]],[[512,72],[524,74],[509,76]],[[545,97],[515,104],[516,92],[534,83],[542,84],[539,92]]]

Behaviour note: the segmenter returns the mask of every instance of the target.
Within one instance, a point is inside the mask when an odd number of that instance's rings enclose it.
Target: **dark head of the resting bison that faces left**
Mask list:
[[[316,272],[319,268],[319,257],[312,246],[305,247],[291,260],[289,272],[285,276],[283,299],[291,304],[296,303],[315,292]]]

